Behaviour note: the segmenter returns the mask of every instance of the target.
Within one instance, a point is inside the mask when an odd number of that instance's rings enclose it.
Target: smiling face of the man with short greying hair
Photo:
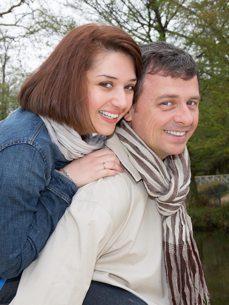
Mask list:
[[[146,74],[142,94],[125,119],[160,159],[184,151],[198,124],[197,76]]]

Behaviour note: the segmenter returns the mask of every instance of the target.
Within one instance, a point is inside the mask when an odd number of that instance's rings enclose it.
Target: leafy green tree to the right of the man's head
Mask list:
[[[196,30],[187,44],[195,48],[202,101],[190,150],[197,174],[223,174],[229,172],[229,4],[202,0],[193,7]]]

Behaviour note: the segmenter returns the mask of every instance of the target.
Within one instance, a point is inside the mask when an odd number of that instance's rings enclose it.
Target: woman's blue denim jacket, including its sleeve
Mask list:
[[[58,170],[68,164],[44,122],[18,108],[0,121],[0,277],[38,257],[77,191]]]

